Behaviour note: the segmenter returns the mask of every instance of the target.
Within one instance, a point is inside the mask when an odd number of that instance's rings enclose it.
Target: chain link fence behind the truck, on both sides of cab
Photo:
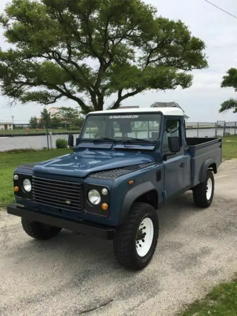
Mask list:
[[[68,134],[79,135],[75,126],[31,128],[29,124],[0,125],[0,152],[21,149],[53,149],[56,140],[68,139]],[[186,122],[187,137],[225,137],[237,135],[237,122]]]

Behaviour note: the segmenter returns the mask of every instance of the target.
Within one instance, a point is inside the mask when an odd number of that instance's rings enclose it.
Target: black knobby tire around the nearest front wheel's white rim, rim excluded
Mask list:
[[[136,250],[137,231],[142,221],[150,218],[153,223],[154,234],[148,253],[141,257]],[[119,226],[114,237],[114,254],[118,263],[127,269],[141,270],[151,261],[156,250],[159,233],[159,223],[156,210],[147,203],[134,203],[127,220]]]

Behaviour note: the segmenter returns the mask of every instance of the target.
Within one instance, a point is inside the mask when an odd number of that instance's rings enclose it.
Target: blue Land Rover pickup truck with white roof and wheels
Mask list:
[[[89,113],[73,150],[16,168],[15,203],[24,231],[49,239],[61,229],[113,239],[118,263],[141,270],[158,242],[157,209],[188,190],[210,206],[222,139],[187,138],[179,108]]]

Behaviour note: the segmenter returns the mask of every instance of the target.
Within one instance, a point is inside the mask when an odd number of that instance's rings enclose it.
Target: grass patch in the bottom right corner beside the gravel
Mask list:
[[[221,283],[180,316],[237,316],[237,280]]]

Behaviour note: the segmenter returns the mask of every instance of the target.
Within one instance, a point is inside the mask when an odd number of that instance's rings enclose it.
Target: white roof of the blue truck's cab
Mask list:
[[[184,116],[184,112],[176,107],[172,108],[133,108],[133,109],[116,109],[116,110],[105,110],[105,111],[95,111],[89,114],[121,114],[121,113],[156,113],[161,112],[163,115],[167,116]]]

